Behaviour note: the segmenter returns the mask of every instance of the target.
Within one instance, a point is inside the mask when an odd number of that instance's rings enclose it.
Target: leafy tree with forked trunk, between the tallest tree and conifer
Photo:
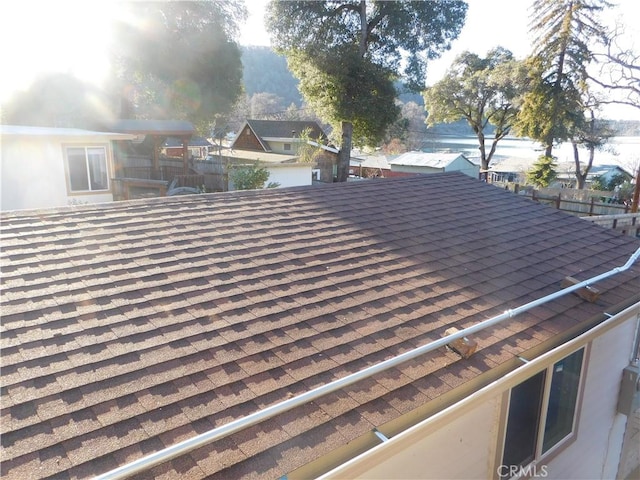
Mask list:
[[[444,78],[424,93],[429,125],[464,119],[476,137],[482,169],[487,170],[498,142],[507,136],[519,113],[526,71],[504,48],[491,50],[485,58],[464,52]],[[495,127],[489,151],[487,126]]]

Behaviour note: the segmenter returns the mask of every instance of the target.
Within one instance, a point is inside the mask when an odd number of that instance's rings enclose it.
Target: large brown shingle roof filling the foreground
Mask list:
[[[86,478],[622,265],[462,174],[4,212],[3,479]],[[640,291],[640,268],[156,467],[276,478]]]

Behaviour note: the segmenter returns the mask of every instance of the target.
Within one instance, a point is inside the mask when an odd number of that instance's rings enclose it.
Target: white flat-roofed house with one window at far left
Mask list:
[[[2,210],[114,199],[114,141],[134,135],[0,125]]]

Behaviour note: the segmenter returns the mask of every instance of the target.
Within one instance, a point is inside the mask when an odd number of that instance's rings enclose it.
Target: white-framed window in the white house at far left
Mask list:
[[[72,192],[109,189],[105,147],[66,147],[65,156],[69,189]]]

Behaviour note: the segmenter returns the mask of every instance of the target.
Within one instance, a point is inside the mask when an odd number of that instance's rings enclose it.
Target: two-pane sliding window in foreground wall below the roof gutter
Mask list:
[[[575,432],[584,348],[511,389],[501,475],[539,461]]]

